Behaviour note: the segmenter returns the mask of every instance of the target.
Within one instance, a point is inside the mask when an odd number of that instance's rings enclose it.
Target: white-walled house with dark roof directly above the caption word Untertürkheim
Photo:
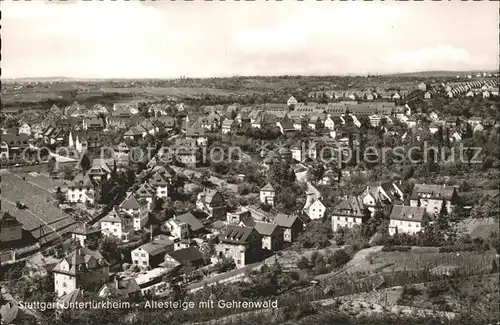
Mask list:
[[[58,297],[78,288],[94,291],[109,281],[109,263],[101,253],[83,247],[59,261],[52,274]]]

